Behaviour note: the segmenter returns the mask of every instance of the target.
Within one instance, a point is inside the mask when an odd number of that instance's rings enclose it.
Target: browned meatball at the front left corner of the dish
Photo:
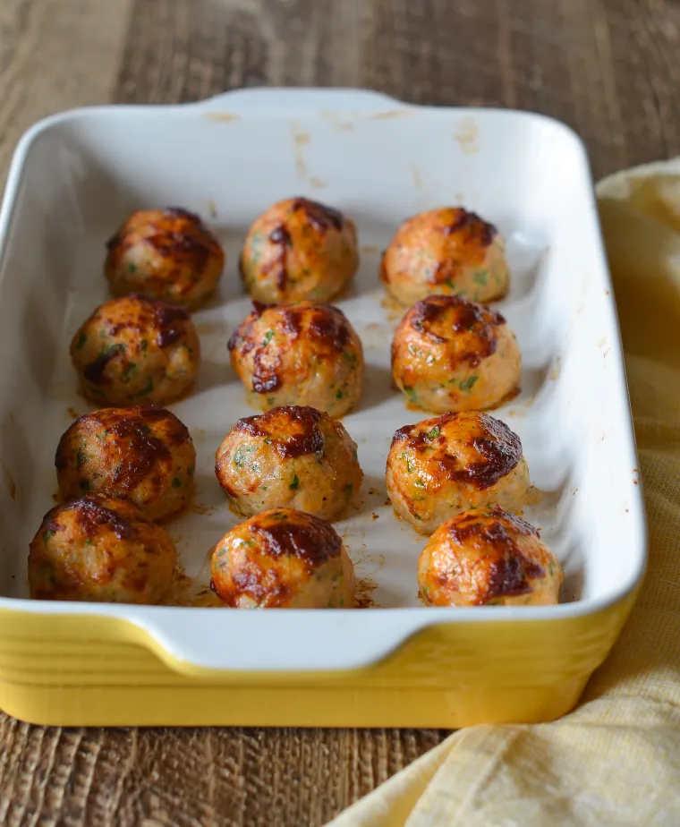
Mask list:
[[[157,603],[177,551],[126,499],[87,496],[47,512],[30,543],[30,596],[38,600]]]

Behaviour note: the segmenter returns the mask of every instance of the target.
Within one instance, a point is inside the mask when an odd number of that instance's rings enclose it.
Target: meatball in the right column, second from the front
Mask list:
[[[387,494],[422,534],[468,508],[523,507],[529,466],[522,442],[488,413],[445,413],[396,431],[387,456]]]

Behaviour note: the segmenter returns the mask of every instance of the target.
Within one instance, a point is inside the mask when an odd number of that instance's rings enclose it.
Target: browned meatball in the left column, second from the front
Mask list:
[[[64,499],[83,493],[130,499],[149,520],[183,508],[193,493],[196,450],[174,413],[153,405],[85,413],[59,440]]]

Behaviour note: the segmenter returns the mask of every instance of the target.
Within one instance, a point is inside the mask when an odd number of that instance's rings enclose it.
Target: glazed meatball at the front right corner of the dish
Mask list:
[[[544,606],[557,603],[564,579],[533,525],[500,507],[447,520],[418,561],[429,606]]]

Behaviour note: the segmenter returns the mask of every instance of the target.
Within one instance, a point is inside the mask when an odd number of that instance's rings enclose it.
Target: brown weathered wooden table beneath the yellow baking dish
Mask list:
[[[679,81],[673,0],[1,0],[0,170],[59,109],[270,84],[538,110],[582,134],[600,176],[680,149]],[[0,713],[0,823],[322,824],[445,735]]]

